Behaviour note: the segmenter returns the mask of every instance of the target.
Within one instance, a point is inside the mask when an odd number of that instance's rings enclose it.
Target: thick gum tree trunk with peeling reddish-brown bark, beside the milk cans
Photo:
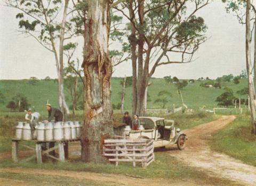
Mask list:
[[[87,1],[84,21],[84,122],[81,158],[85,162],[102,163],[102,142],[113,135],[113,108],[110,102],[112,72],[108,53],[109,2]]]

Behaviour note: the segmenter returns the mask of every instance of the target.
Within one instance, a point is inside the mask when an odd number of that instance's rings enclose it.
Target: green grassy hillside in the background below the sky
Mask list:
[[[121,103],[122,86],[120,81],[122,80],[122,78],[112,78],[111,81],[111,100],[115,105]],[[148,102],[148,108],[161,107],[161,105],[154,102],[157,99],[158,92],[162,90],[167,90],[172,94],[170,101],[166,104],[167,108],[171,109],[173,104],[175,104],[175,106],[182,105],[175,84],[169,84],[166,83],[164,79],[155,78],[151,79],[150,82],[153,82],[153,84],[148,89],[150,100]],[[183,88],[182,95],[185,104],[190,108],[198,108],[203,105],[210,108],[216,106],[217,103],[215,102],[215,99],[223,92],[223,89],[200,87],[199,84],[201,82],[202,81],[195,81],[195,83],[189,83],[187,87]],[[246,86],[246,79],[241,80],[239,84],[234,84],[234,82],[221,83],[222,88],[229,87],[233,89],[236,97],[239,97],[239,95],[236,94],[236,91]],[[6,108],[6,105],[10,102],[11,98],[17,94],[25,95],[31,107],[34,106],[36,111],[44,111],[44,105],[47,102],[47,99],[49,99],[49,102],[53,106],[58,106],[58,82],[54,82],[53,80],[41,80],[36,85],[29,84],[28,80],[0,80],[0,90],[6,98],[4,104],[0,103],[0,111],[2,112],[9,111],[9,109]],[[68,105],[70,105],[70,96],[67,90],[66,96]],[[241,98],[245,98],[245,96]],[[131,106],[132,87],[127,87],[125,94],[125,109],[130,110]]]

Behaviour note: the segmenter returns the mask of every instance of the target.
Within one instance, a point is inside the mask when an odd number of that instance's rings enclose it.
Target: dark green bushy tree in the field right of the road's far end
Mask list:
[[[234,103],[234,92],[230,88],[224,88],[225,92],[223,92],[220,96],[217,97],[216,102],[221,106],[231,106]]]

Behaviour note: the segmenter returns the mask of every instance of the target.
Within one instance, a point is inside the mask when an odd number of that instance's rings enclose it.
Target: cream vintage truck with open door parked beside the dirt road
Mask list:
[[[173,120],[165,120],[162,117],[140,117],[140,130],[131,130],[129,126],[125,128],[126,138],[146,138],[154,140],[154,147],[165,147],[177,144],[180,150],[185,149],[188,140],[187,135],[175,129]],[[171,125],[165,125],[165,122]]]

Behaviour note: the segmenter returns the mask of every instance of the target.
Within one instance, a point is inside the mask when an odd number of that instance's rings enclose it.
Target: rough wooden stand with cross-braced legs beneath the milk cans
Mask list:
[[[35,149],[32,147],[29,147],[27,145],[23,145],[21,142],[22,141],[33,141],[36,143]],[[12,160],[14,163],[18,163],[18,154],[19,154],[19,146],[26,147],[30,150],[34,150],[35,154],[32,156],[21,160],[21,162],[28,162],[31,159],[36,158],[37,163],[43,163],[43,157],[47,156],[52,159],[58,160],[59,162],[65,162],[65,158],[68,158],[68,142],[73,142],[73,141],[80,141],[80,139],[75,139],[75,140],[61,140],[61,141],[37,141],[37,140],[20,140],[20,139],[12,139]],[[55,142],[57,145],[55,145],[52,148],[46,148],[46,142]],[[58,155],[58,157],[52,156],[49,153],[51,151],[54,151],[58,149],[59,154],[55,153]]]

